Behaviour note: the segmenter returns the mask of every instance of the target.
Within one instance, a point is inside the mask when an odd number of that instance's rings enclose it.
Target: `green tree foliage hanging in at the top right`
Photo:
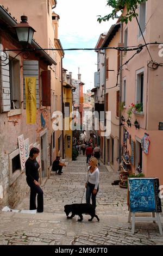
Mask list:
[[[105,15],[102,17],[99,15],[97,21],[101,23],[102,21],[109,21],[109,19],[115,19],[117,16],[118,12],[121,11],[123,12],[124,7],[127,9],[127,14],[122,16],[120,20],[122,22],[127,23],[128,20],[131,21],[133,17],[135,17],[137,14],[135,13],[135,10],[139,6],[139,4],[148,1],[148,0],[106,0],[107,4],[109,7],[112,7],[112,12],[108,15]]]

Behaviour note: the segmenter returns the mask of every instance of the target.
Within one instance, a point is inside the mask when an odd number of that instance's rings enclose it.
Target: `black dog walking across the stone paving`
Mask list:
[[[92,221],[94,217],[96,217],[99,221],[98,216],[95,214],[95,208],[92,206],[92,204],[66,204],[64,208],[67,218],[73,218],[75,215],[79,215],[80,220],[78,221],[82,221],[82,214],[89,214],[91,215],[89,221]],[[72,212],[72,215],[69,217],[68,215],[70,214],[70,212]]]

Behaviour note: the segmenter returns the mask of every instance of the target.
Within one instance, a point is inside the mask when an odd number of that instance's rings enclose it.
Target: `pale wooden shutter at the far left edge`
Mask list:
[[[10,71],[9,71],[9,55],[7,53],[7,59],[2,61],[1,64],[7,64],[5,66],[1,66],[1,95],[2,95],[2,112],[10,111],[11,109],[11,101],[10,101]],[[2,59],[4,59],[2,57]]]

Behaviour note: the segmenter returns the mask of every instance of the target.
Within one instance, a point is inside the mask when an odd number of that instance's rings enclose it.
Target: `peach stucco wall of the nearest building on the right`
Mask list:
[[[162,42],[163,31],[161,26],[163,1],[146,2],[146,31],[144,33],[146,42]],[[123,26],[124,30],[128,28],[128,46],[144,44],[141,38],[138,38],[138,26],[136,19]],[[157,46],[148,46],[151,56],[155,62],[162,63],[163,58],[159,57],[159,48]],[[127,52],[123,54],[123,63],[126,62],[134,52]],[[158,130],[159,121],[163,121],[163,72],[162,67],[159,66],[157,70],[147,68],[147,62],[151,60],[147,48],[137,54],[128,65],[124,66],[122,75],[123,79],[126,78],[126,107],[128,108],[131,103],[135,102],[136,94],[136,70],[144,69],[144,99],[143,99],[143,114],[132,114],[131,127],[127,127],[129,134],[133,140],[136,136],[141,139],[145,132],[149,134],[151,139],[151,146],[149,148],[149,154],[146,156],[142,153],[142,170],[146,176],[158,176],[160,184],[163,184],[163,136],[162,131]],[[127,111],[126,108],[126,111]],[[127,119],[127,113],[124,111],[124,116]],[[136,130],[134,121],[137,119],[140,123],[140,130]],[[128,149],[130,151],[130,145],[128,142]],[[133,172],[136,166],[132,168]]]

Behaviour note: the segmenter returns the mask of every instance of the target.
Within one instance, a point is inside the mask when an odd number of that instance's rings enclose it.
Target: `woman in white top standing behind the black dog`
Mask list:
[[[99,190],[99,169],[97,168],[98,161],[96,157],[92,156],[89,160],[89,169],[86,177],[86,203],[90,204],[92,199],[92,205],[96,208],[96,195]]]

